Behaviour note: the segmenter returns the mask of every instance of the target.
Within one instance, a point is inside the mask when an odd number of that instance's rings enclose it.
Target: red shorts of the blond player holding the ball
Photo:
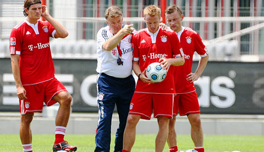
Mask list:
[[[154,110],[154,118],[172,118],[174,94],[148,94],[135,92],[129,107],[129,114],[140,115],[149,120]]]

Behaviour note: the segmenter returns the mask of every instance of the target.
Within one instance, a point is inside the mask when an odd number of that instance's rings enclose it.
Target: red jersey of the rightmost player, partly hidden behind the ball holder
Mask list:
[[[175,89],[176,93],[190,93],[195,91],[194,83],[187,81],[187,75],[192,72],[193,55],[196,51],[201,57],[207,56],[208,51],[204,46],[201,37],[191,28],[182,27],[177,33],[184,53],[185,62],[182,66],[175,68]]]

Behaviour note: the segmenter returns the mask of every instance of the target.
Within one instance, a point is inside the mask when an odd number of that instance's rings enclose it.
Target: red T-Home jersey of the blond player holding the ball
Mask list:
[[[160,58],[182,57],[182,49],[176,33],[172,30],[159,29],[156,33],[148,32],[147,28],[134,34],[131,39],[134,46],[134,61],[139,61],[143,72],[150,63]],[[174,73],[171,66],[166,78],[158,83],[144,83],[138,80],[135,92],[141,93],[175,93]]]

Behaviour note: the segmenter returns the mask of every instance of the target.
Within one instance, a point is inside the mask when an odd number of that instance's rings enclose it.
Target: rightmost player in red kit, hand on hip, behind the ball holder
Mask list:
[[[193,139],[195,149],[203,152],[203,133],[200,120],[200,107],[197,98],[194,81],[201,76],[207,62],[208,51],[204,46],[199,34],[191,28],[182,27],[181,21],[184,15],[181,9],[176,6],[169,6],[165,10],[165,18],[169,27],[174,30],[179,38],[183,49],[185,63],[183,66],[175,67],[175,86],[176,96],[174,104],[174,116],[169,120],[169,134],[167,143],[169,151],[177,151],[176,132],[174,129],[176,115],[187,115],[191,124],[191,137]],[[201,59],[195,73],[192,73],[193,55],[197,52]]]

